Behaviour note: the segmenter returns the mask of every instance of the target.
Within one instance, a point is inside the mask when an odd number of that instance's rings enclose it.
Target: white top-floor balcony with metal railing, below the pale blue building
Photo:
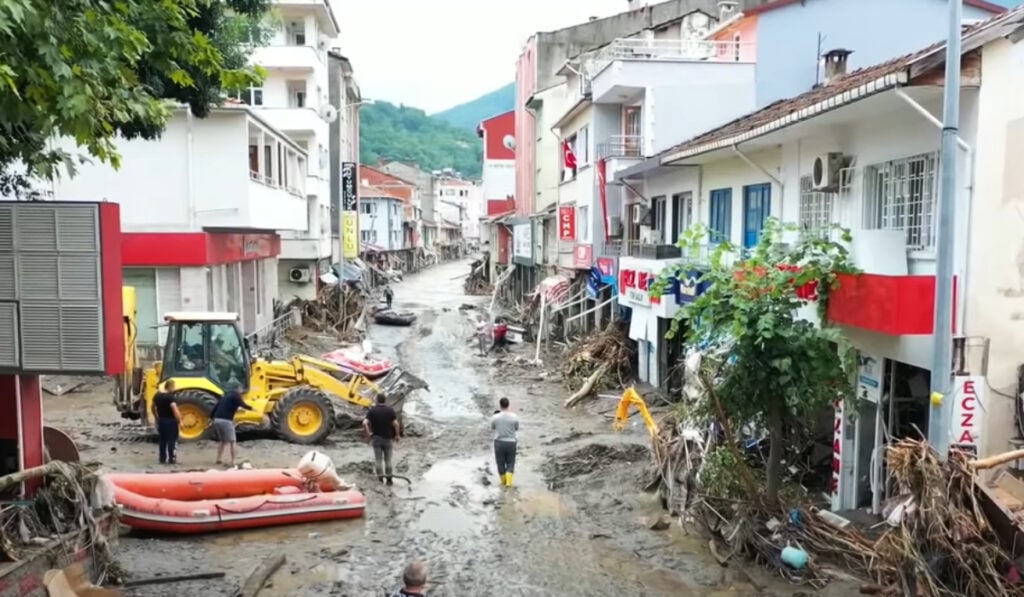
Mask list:
[[[647,87],[688,87],[680,84],[687,81],[694,82],[694,87],[717,87],[716,92],[722,91],[722,85],[753,89],[756,63],[741,59],[753,55],[744,45],[749,44],[617,39],[584,68],[591,80],[594,103],[623,103],[642,95]],[[692,91],[687,90],[690,94]]]

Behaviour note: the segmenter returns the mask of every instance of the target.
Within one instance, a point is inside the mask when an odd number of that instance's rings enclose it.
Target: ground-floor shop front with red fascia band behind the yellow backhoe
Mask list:
[[[281,238],[272,232],[123,232],[125,286],[135,288],[138,341],[162,345],[155,328],[170,311],[231,311],[251,334],[273,321]]]

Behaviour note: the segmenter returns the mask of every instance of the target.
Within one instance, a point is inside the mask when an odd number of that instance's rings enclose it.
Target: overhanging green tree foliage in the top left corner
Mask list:
[[[209,114],[247,67],[267,0],[0,0],[0,173],[74,171],[71,137],[117,167],[115,139],[157,138],[167,100]],[[255,34],[255,35],[253,35]]]

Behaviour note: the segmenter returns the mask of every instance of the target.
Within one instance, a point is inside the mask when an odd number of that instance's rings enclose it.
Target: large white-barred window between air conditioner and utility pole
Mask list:
[[[932,153],[867,167],[864,227],[903,230],[907,249],[935,249],[938,161]]]

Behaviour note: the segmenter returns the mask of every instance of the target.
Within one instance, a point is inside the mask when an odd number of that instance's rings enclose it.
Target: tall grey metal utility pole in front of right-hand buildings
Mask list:
[[[956,206],[956,139],[959,129],[962,0],[949,2],[949,35],[946,40],[945,98],[942,102],[940,153],[939,225],[935,255],[935,329],[932,355],[932,415],[928,439],[945,458],[952,431],[952,321],[953,321],[953,215]]]

